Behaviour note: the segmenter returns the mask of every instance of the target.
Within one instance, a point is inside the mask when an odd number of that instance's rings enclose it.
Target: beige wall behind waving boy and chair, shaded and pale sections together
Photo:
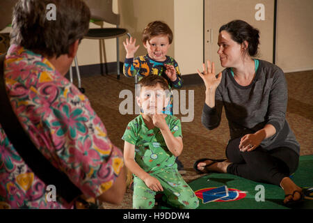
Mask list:
[[[135,56],[147,54],[141,43],[141,33],[145,26],[154,20],[166,22],[174,33],[174,40],[168,51],[179,64],[182,75],[195,73],[202,64],[203,54],[203,1],[202,0],[119,0],[113,1],[113,10],[120,13],[120,27],[129,30],[140,45]],[[109,24],[104,24],[109,26]],[[97,27],[90,24],[90,27]],[[125,59],[122,42],[127,36],[120,38],[120,61]],[[99,41],[83,40],[78,52],[79,65],[116,61],[116,40],[106,40],[106,58],[100,60]],[[86,53],[88,52],[88,53]]]

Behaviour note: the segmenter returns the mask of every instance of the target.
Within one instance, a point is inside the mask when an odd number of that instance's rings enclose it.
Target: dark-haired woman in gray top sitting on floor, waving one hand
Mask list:
[[[272,63],[252,59],[257,55],[259,31],[241,20],[220,27],[218,54],[225,68],[215,75],[214,63],[203,64],[205,103],[203,125],[220,124],[222,108],[230,127],[227,160],[201,159],[197,171],[234,174],[258,182],[280,185],[284,203],[303,201],[303,191],[289,176],[298,167],[300,145],[289,127],[287,82]]]

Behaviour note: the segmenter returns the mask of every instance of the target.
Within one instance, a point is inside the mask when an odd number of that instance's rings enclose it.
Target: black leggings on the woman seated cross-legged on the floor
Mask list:
[[[240,138],[227,145],[226,156],[232,162],[228,174],[241,176],[257,182],[280,185],[282,178],[290,176],[298,168],[299,155],[291,148],[278,147],[266,151],[260,146],[254,151],[241,152]]]

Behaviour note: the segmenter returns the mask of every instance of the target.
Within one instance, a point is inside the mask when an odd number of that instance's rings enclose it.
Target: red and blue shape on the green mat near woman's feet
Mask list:
[[[195,195],[202,199],[202,203],[209,203],[213,201],[237,201],[246,197],[246,193],[241,190],[228,188],[226,185],[221,187],[209,187],[195,191]]]

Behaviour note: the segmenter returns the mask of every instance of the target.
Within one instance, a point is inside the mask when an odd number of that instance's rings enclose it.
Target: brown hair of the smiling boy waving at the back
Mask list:
[[[164,22],[154,21],[147,24],[143,30],[143,43],[147,43],[147,40],[151,40],[154,36],[168,36],[168,42],[172,43],[172,30]]]

